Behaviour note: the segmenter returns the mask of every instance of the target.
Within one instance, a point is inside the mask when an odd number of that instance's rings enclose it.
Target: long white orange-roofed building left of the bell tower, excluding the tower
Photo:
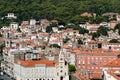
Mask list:
[[[14,77],[16,80],[57,80],[55,63],[50,60],[16,60]]]

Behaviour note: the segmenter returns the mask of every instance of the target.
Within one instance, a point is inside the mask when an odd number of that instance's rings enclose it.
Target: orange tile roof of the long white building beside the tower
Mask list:
[[[45,64],[46,66],[55,66],[55,62],[52,60],[16,60],[16,63],[20,63],[22,66],[25,67],[32,67],[36,64]]]

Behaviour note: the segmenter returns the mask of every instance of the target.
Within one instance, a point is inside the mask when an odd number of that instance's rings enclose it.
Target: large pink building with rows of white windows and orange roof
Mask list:
[[[76,54],[77,70],[101,72],[102,66],[117,58],[117,51],[85,51]]]

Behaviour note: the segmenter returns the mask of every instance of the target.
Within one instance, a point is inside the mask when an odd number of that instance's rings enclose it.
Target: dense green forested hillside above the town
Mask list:
[[[67,21],[83,12],[120,13],[120,0],[0,0],[0,16],[14,12],[18,19]]]

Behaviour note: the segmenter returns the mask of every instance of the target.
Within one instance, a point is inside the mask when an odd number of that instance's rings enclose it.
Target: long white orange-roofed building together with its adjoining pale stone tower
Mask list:
[[[16,80],[69,80],[68,64],[64,53],[59,62],[52,60],[16,60],[14,63]]]

